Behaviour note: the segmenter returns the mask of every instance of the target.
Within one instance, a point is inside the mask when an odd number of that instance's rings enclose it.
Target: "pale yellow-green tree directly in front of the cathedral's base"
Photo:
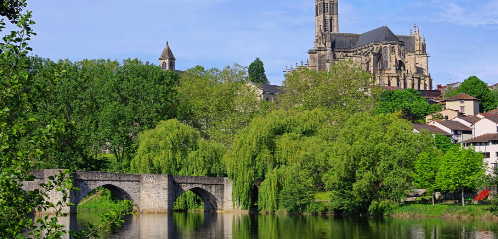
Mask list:
[[[324,108],[336,123],[357,112],[373,112],[380,89],[371,88],[370,73],[352,61],[340,61],[330,71],[318,72],[300,67],[285,75],[281,96],[284,109]]]

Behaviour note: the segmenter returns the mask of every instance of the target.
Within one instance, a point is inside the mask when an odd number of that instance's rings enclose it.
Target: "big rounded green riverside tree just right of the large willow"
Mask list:
[[[432,147],[428,134],[393,115],[355,114],[337,133],[324,177],[336,212],[382,213],[406,197],[413,161]]]

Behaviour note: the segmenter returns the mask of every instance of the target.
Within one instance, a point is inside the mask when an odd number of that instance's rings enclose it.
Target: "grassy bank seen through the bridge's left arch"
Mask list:
[[[87,194],[80,204],[78,211],[103,212],[109,210],[119,210],[119,202],[116,197],[107,189],[98,189]]]

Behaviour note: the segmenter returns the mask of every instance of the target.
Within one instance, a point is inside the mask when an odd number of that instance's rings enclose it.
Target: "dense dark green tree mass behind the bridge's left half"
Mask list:
[[[154,128],[160,120],[177,114],[179,75],[160,67],[127,59],[122,64],[110,60],[54,62],[31,57],[30,71],[36,82],[44,83],[53,72],[66,71],[32,117],[39,127],[55,116],[63,116],[74,126],[53,149],[54,157],[44,168],[104,170],[109,162],[100,155],[108,151],[126,171],[136,150],[139,132]]]

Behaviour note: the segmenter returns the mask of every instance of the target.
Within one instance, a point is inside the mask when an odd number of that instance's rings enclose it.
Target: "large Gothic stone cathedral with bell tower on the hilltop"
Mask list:
[[[373,74],[375,84],[432,89],[429,54],[418,26],[410,35],[395,35],[387,26],[363,34],[339,33],[337,0],[316,0],[315,43],[308,54],[309,69],[327,71],[340,60],[353,60]],[[286,73],[297,68],[291,66]]]

